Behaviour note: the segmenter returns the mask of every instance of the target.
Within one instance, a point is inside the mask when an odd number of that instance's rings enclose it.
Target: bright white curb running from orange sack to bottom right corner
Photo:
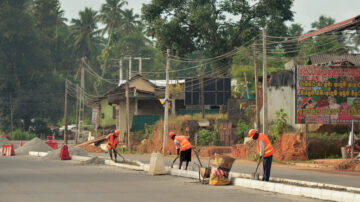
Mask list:
[[[360,194],[333,191],[328,189],[310,188],[310,187],[299,187],[294,185],[286,185],[273,182],[263,182],[259,180],[250,180],[244,178],[235,178],[232,180],[233,185],[258,189],[268,192],[275,192],[294,196],[304,196],[309,198],[331,200],[331,201],[359,201]]]

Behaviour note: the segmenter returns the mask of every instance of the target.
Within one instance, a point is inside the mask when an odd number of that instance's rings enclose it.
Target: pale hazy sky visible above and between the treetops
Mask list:
[[[99,11],[105,0],[60,0],[61,7],[65,11],[65,17],[77,18],[80,10],[90,7]],[[128,0],[128,5],[124,8],[132,8],[137,14],[141,13],[144,3],[151,0]],[[305,31],[311,29],[311,23],[318,20],[320,15],[332,17],[336,22],[340,22],[357,15],[360,15],[360,0],[295,0],[292,10],[294,22],[303,26]]]

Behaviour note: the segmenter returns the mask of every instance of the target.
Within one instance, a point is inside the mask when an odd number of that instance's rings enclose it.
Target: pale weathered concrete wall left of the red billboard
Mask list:
[[[276,111],[281,108],[288,115],[288,125],[297,128],[295,124],[295,88],[286,87],[268,87],[268,123],[270,125],[276,120]],[[260,110],[260,121],[263,123],[263,108]]]

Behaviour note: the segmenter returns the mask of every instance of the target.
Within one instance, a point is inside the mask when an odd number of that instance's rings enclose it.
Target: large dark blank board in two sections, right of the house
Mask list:
[[[204,105],[227,105],[231,97],[230,78],[203,78]],[[185,105],[201,105],[201,80],[185,79]]]

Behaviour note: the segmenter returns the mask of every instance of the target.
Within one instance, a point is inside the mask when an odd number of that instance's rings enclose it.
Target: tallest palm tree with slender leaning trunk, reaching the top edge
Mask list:
[[[108,42],[106,49],[109,48],[111,43],[111,38],[114,28],[119,28],[121,26],[122,18],[122,7],[127,5],[126,0],[106,0],[106,3],[102,5],[100,10],[100,21],[103,22],[106,26],[103,29],[103,35],[108,33]],[[108,51],[108,50],[105,50]],[[102,76],[104,76],[106,69],[107,58],[104,60],[104,66],[102,71]]]

